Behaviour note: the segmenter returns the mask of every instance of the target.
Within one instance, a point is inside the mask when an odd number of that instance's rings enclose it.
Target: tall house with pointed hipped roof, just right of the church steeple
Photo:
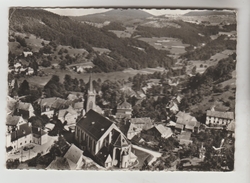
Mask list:
[[[116,118],[130,119],[132,115],[132,110],[133,110],[132,105],[128,103],[126,99],[124,98],[124,101],[117,106]]]

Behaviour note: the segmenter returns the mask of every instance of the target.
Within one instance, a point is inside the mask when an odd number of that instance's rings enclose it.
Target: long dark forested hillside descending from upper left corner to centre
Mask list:
[[[119,25],[119,23],[111,24],[115,27]],[[12,15],[10,28],[15,31],[35,34],[57,44],[85,48],[90,53],[94,52],[92,46],[111,50],[109,57],[103,56],[95,60],[101,65],[98,65],[99,68],[95,68],[95,71],[110,72],[127,67],[140,69],[171,66],[174,62],[172,58],[167,56],[167,51],[157,50],[143,41],[118,38],[105,27],[98,29],[44,10],[17,9]],[[140,51],[136,47],[145,51]],[[115,59],[116,61],[114,61]]]

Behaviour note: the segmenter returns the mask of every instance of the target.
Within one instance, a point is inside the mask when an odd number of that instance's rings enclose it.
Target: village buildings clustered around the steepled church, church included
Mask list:
[[[148,117],[133,118],[132,105],[124,98],[117,105],[116,122],[103,115],[102,109],[96,105],[96,91],[92,78],[89,80],[87,101],[83,94],[71,93],[67,99],[40,98],[35,103],[40,107],[41,115],[49,119],[55,117],[71,132],[74,144],[62,157],[56,157],[47,169],[81,169],[83,152],[105,168],[129,168],[138,163],[138,157],[133,151],[132,142],[147,146],[156,145],[153,139],[168,139],[176,137],[180,144],[192,143],[191,134],[198,133],[201,123],[192,115],[179,111],[180,96],[173,97],[166,108],[172,112],[175,119],[156,123]],[[8,97],[6,118],[6,148],[18,150],[29,144],[43,145],[47,142],[48,132],[55,124],[49,122],[45,126],[32,126],[29,121],[35,117],[32,104],[24,103]],[[125,131],[118,128],[117,121],[124,122],[128,127]],[[53,120],[51,120],[53,121]],[[207,111],[206,125],[226,126],[234,132],[234,113],[219,112],[213,108]],[[158,145],[160,142],[158,142]],[[205,149],[199,150],[204,159]]]

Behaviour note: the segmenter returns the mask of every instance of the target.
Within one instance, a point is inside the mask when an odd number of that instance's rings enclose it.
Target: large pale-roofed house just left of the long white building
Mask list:
[[[178,132],[182,131],[190,131],[190,132],[198,132],[200,128],[200,122],[193,116],[188,113],[184,113],[179,111],[176,115],[176,125],[175,130]]]

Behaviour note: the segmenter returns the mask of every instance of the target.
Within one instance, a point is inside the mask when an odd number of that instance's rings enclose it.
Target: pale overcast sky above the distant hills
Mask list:
[[[81,15],[88,15],[88,14],[94,14],[94,13],[101,13],[105,11],[109,11],[111,9],[96,9],[96,8],[88,8],[88,9],[75,9],[75,8],[46,8],[45,10],[51,11],[53,13],[59,14],[59,15],[65,15],[65,16],[81,16]],[[169,9],[144,9],[144,11],[152,14],[152,15],[163,15],[163,14],[184,14],[189,12],[190,10],[169,10]]]

